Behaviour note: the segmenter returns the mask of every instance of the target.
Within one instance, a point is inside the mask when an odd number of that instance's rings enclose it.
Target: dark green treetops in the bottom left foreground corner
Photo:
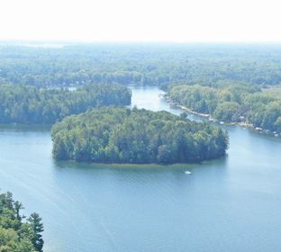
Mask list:
[[[43,224],[37,213],[24,220],[23,204],[14,201],[12,193],[0,194],[0,251],[43,251]]]

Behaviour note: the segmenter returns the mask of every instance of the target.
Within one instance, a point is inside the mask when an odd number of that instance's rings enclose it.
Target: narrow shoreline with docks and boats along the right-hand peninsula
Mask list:
[[[200,116],[200,117],[203,117],[205,119],[208,119],[208,121],[212,121],[213,123],[216,123],[216,124],[220,124],[220,125],[228,125],[228,126],[240,126],[240,127],[245,127],[245,128],[248,128],[248,129],[251,129],[251,130],[255,130],[259,133],[264,133],[264,134],[267,134],[267,135],[271,135],[271,136],[274,136],[276,138],[278,137],[281,137],[281,133],[278,133],[276,131],[271,131],[271,130],[265,130],[265,129],[262,129],[260,127],[254,127],[254,125],[252,123],[249,123],[249,122],[246,122],[246,121],[240,121],[240,122],[225,122],[225,121],[218,121],[216,119],[214,119],[212,117],[211,114],[209,113],[201,113],[201,112],[195,112],[194,110],[180,104],[180,103],[176,103],[174,101],[172,101],[167,94],[161,94],[160,95],[161,97],[163,97],[163,99],[169,103],[171,106],[175,106],[185,112],[189,112],[191,114],[195,114],[197,116]]]

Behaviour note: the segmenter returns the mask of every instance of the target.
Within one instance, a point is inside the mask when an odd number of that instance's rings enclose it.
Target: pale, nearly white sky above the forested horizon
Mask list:
[[[0,40],[280,42],[280,0],[0,0]]]

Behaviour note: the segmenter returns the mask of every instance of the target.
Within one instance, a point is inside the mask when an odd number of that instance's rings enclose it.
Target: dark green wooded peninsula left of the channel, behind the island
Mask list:
[[[0,85],[0,122],[54,123],[69,114],[106,105],[129,105],[122,85],[84,85],[76,90]]]

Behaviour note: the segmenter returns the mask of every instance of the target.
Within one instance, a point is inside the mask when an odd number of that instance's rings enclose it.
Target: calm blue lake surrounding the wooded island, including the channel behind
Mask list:
[[[132,106],[181,112],[157,87],[131,90]],[[281,139],[223,128],[221,159],[111,166],[56,162],[48,127],[1,125],[0,188],[41,214],[46,252],[279,252]]]

